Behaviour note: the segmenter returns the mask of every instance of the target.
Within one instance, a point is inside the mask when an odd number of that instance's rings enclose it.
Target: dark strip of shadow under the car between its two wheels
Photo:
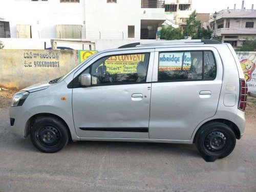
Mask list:
[[[154,143],[154,142],[119,142],[119,141],[79,141],[69,142],[63,151],[98,153],[108,151],[111,154],[131,153],[133,155],[177,155],[180,157],[201,158],[193,144]]]

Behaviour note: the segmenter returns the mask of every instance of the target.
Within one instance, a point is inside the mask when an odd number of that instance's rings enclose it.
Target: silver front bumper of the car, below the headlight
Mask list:
[[[25,138],[26,127],[28,126],[30,117],[33,116],[32,113],[27,111],[23,106],[13,106],[9,110],[10,118],[15,119],[13,125],[11,126],[11,132],[20,138]]]

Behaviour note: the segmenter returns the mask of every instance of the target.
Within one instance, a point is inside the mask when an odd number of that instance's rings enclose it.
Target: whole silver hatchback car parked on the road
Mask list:
[[[54,153],[68,141],[196,143],[228,156],[245,128],[247,86],[236,53],[214,40],[129,44],[16,93],[12,132]]]

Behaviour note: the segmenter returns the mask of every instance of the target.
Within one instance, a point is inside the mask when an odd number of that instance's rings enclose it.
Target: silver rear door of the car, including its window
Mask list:
[[[222,63],[209,47],[156,49],[150,138],[189,140],[197,125],[215,115]]]

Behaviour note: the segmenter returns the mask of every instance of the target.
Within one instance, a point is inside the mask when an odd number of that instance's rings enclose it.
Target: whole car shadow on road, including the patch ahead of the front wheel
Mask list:
[[[30,138],[15,138],[6,141],[8,148],[18,149],[19,152],[39,152],[32,144]],[[180,157],[201,158],[195,144],[174,144],[174,143],[154,143],[154,142],[119,142],[119,141],[70,141],[68,145],[57,152],[58,154],[77,154],[77,153],[102,153],[108,151],[110,154],[117,155],[131,153],[136,156],[147,154],[152,155],[171,155]]]

